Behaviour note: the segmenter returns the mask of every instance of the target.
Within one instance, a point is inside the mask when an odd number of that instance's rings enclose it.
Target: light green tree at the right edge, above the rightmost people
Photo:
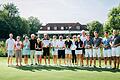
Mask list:
[[[111,32],[112,29],[120,30],[120,5],[118,7],[113,7],[108,13],[104,30]]]

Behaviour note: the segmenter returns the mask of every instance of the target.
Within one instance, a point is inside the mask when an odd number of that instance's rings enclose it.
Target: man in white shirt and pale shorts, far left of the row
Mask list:
[[[13,39],[12,33],[9,34],[9,37],[10,38],[6,40],[6,49],[8,53],[8,66],[9,64],[12,65],[12,57],[14,55],[14,44],[15,44],[15,40]]]

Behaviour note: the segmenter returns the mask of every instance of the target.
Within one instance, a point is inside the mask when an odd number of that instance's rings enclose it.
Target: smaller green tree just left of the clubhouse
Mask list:
[[[30,26],[30,32],[29,34],[36,34],[36,32],[40,29],[41,23],[38,18],[36,17],[29,17],[28,18],[29,26]]]

